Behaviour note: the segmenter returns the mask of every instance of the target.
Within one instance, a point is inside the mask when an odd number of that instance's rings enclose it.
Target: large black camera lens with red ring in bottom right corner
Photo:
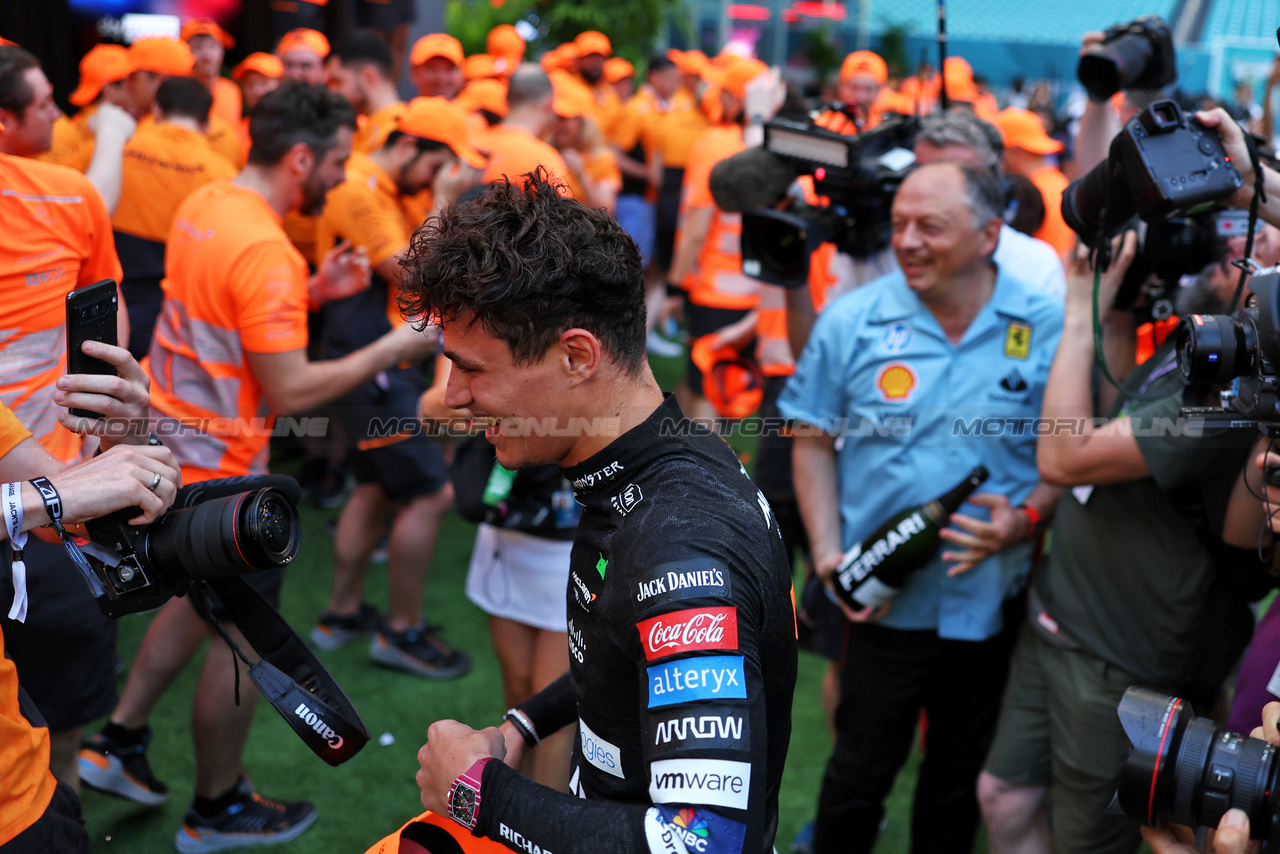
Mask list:
[[[1216,827],[1228,809],[1249,817],[1249,835],[1280,850],[1280,761],[1260,739],[1196,717],[1190,704],[1130,688],[1117,707],[1132,750],[1108,812],[1144,825]]]

